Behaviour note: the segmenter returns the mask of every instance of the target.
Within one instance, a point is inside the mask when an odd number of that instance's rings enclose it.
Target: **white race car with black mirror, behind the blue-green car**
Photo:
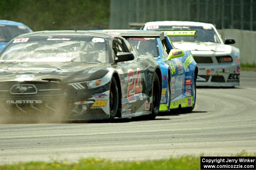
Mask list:
[[[143,29],[165,31],[176,48],[191,51],[198,63],[197,86],[239,85],[240,51],[228,45],[234,44],[234,39],[226,38],[223,42],[212,24],[157,21],[145,23]],[[197,30],[197,36],[186,30]]]

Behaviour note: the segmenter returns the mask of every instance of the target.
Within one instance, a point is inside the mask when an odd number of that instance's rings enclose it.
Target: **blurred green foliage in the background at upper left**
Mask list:
[[[33,31],[109,23],[110,0],[0,0],[0,20],[22,22]]]

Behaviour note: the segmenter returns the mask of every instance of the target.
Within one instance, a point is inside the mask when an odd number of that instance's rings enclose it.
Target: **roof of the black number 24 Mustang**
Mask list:
[[[105,39],[112,39],[111,33],[106,32],[98,32],[98,31],[74,31],[74,30],[54,30],[54,31],[36,31],[36,32],[30,32],[26,34],[21,34],[20,36],[17,36],[16,38],[22,38],[22,37],[33,37],[33,36],[99,36],[104,37]],[[114,35],[118,36],[118,35]]]

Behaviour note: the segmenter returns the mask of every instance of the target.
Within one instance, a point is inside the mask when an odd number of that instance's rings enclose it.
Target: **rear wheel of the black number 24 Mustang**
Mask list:
[[[152,104],[151,104],[151,114],[148,115],[148,119],[152,120],[159,113],[159,107],[161,102],[161,85],[157,74],[154,74],[154,80],[152,83]]]

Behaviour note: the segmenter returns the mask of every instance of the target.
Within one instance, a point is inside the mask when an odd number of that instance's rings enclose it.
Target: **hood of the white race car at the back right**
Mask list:
[[[182,50],[213,52],[229,52],[232,47],[215,42],[173,42],[173,45]]]

